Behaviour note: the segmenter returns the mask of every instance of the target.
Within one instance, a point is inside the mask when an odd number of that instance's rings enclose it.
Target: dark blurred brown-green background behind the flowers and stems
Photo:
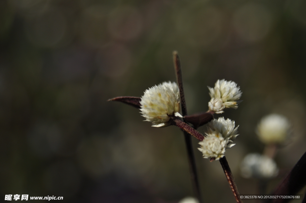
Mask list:
[[[217,79],[241,87],[238,109],[215,115],[240,126],[226,157],[241,194],[258,194],[258,182],[239,170],[247,153],[263,151],[257,123],[269,113],[290,120],[270,192],[306,149],[305,9],[303,0],[1,0],[0,201],[193,196],[181,131],[151,127],[138,109],[106,101],[175,81],[174,50],[189,114],[208,109],[207,86]],[[220,163],[193,143],[205,202],[235,202]]]

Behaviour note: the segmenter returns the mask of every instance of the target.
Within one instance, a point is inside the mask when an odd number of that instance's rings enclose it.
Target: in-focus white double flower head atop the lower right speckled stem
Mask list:
[[[199,142],[201,148],[198,149],[204,158],[219,160],[224,157],[226,148],[235,145],[232,142],[238,136],[238,127],[235,128],[235,121],[223,117],[212,120],[208,126],[207,137]]]

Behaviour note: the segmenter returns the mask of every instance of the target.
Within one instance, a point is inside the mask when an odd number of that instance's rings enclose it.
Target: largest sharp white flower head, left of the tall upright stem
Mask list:
[[[180,91],[176,83],[163,82],[147,89],[140,101],[140,111],[154,127],[166,127],[171,116],[180,116]]]

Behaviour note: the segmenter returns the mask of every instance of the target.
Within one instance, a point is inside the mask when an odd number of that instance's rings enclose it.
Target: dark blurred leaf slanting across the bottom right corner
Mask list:
[[[306,185],[306,152],[282,180],[272,195],[295,195]],[[269,199],[267,203],[285,203],[290,199]]]

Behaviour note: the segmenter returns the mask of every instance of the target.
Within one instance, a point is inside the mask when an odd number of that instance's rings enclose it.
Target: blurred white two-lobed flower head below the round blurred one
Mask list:
[[[278,168],[273,159],[251,153],[244,157],[240,165],[241,176],[244,178],[273,178],[278,174]]]

